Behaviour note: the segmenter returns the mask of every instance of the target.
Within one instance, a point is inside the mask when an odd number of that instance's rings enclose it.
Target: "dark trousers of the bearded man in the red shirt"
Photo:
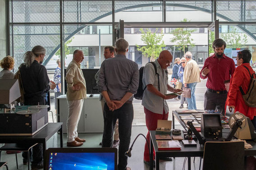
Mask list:
[[[206,91],[205,93],[205,110],[217,110],[222,115],[225,115],[225,103],[227,100],[228,93],[217,94]]]

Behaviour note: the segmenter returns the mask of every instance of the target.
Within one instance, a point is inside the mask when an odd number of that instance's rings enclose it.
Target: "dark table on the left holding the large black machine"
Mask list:
[[[32,136],[0,136],[0,144],[26,143],[34,142],[43,144],[43,156],[46,150],[46,141],[49,140],[56,132],[60,135],[60,148],[63,148],[63,123],[48,123],[44,128]]]

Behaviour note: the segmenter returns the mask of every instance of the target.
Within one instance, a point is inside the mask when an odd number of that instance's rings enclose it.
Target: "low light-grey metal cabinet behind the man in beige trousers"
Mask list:
[[[101,110],[100,95],[95,94],[84,99],[80,120],[78,122],[78,133],[103,133],[103,114]],[[57,122],[63,122],[63,133],[67,133],[67,119],[69,107],[66,95],[57,97]]]

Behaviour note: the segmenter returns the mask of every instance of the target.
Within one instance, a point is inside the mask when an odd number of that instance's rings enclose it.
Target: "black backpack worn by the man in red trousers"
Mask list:
[[[157,73],[155,62],[148,62],[148,63],[151,63],[152,65],[154,65],[155,75],[157,75],[157,77],[158,77],[158,84],[159,84],[159,74]],[[134,95],[134,98],[137,100],[142,100],[143,92],[146,89],[146,87],[143,89],[143,83],[142,83],[143,70],[144,70],[144,66],[141,67],[139,70],[139,72],[140,72],[139,87],[138,87],[137,93]],[[160,86],[158,86],[158,90],[160,91]]]

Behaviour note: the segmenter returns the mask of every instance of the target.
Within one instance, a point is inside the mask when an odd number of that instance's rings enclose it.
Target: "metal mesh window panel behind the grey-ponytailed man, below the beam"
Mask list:
[[[23,63],[24,53],[31,51],[36,45],[46,48],[44,62],[52,57],[55,48],[59,46],[59,33],[59,26],[14,26],[14,71]]]

